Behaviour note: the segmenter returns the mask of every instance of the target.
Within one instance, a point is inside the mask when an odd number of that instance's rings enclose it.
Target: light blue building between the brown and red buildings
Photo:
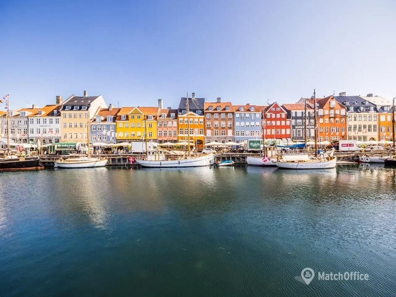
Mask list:
[[[249,139],[262,138],[261,112],[262,107],[257,105],[233,105],[235,110],[234,129],[235,142],[245,143]]]

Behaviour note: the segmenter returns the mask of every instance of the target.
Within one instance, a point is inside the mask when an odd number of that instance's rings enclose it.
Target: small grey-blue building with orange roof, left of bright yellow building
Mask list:
[[[120,108],[102,108],[89,123],[89,135],[92,143],[105,142],[116,143],[116,116]]]

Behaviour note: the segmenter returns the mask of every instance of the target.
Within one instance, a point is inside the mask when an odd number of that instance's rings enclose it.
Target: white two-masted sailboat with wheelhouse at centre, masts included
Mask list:
[[[190,151],[190,117],[188,110],[188,93],[187,93],[187,156],[174,156],[171,155],[166,150],[160,148],[146,149],[145,160],[136,160],[138,164],[142,167],[150,168],[182,168],[182,167],[201,167],[213,165],[215,155],[214,154],[204,154],[202,156],[191,156]],[[145,120],[146,120],[145,116]],[[147,125],[145,124],[145,141],[147,148]]]

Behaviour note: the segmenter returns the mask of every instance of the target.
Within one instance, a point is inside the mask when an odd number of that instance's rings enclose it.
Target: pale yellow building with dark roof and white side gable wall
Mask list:
[[[72,95],[61,105],[62,142],[87,142],[88,119],[92,119],[101,108],[107,108],[102,95],[88,97],[87,91],[83,97]]]

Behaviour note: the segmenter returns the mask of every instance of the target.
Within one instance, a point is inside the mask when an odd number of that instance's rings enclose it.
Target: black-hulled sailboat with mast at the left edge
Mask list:
[[[4,158],[0,158],[0,171],[11,170],[39,170],[44,169],[40,165],[40,158],[38,156],[20,157],[11,155],[10,148],[10,95],[4,97],[6,99],[7,107],[7,148],[4,151]]]

